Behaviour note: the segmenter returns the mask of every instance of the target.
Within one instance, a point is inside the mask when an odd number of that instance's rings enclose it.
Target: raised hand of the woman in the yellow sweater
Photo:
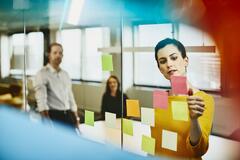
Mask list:
[[[196,96],[189,96],[187,98],[188,109],[191,119],[198,119],[203,115],[205,110],[205,103],[202,98]]]

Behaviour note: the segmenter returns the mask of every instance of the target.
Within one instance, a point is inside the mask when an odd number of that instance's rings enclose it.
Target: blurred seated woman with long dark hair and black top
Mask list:
[[[102,117],[105,119],[105,112],[115,113],[117,118],[126,116],[126,99],[127,95],[121,94],[120,82],[116,76],[111,75],[106,84],[106,90],[102,97]],[[123,111],[122,111],[123,100]]]

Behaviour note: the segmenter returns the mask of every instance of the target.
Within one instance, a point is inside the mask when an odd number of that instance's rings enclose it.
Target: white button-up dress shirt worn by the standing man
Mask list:
[[[34,89],[39,112],[51,109],[77,111],[71,79],[66,71],[57,71],[47,64],[37,73]]]

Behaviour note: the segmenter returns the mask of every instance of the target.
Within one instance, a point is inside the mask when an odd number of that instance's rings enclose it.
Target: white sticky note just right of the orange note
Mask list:
[[[155,126],[155,112],[153,108],[141,107],[141,122],[150,126]]]

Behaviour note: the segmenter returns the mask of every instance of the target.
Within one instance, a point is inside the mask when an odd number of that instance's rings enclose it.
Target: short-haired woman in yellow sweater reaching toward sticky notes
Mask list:
[[[163,76],[170,80],[174,76],[186,76],[188,57],[185,47],[175,39],[164,39],[155,47],[155,59]],[[187,82],[189,96],[173,95],[169,91],[168,108],[155,109],[155,127],[151,128],[152,137],[156,139],[156,154],[190,159],[201,159],[207,152],[208,137],[211,132],[214,100],[203,91]],[[172,118],[173,101],[188,104],[189,120],[178,121]],[[176,150],[162,145],[162,136],[167,132],[175,133]],[[170,143],[170,142],[169,142]]]

